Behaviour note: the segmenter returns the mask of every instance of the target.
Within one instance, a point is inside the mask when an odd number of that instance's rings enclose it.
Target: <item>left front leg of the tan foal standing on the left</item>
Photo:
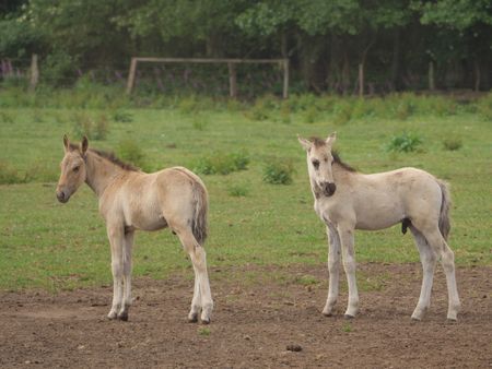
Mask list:
[[[107,237],[112,247],[113,303],[108,319],[118,318],[124,298],[124,248],[125,231],[122,225],[107,225]]]

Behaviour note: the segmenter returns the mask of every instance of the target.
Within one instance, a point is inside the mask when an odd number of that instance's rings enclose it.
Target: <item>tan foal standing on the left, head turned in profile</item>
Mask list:
[[[125,164],[113,154],[89,148],[63,136],[65,156],[57,198],[66,203],[83,183],[96,193],[112,248],[113,305],[109,319],[128,320],[131,305],[131,248],[137,229],[169,227],[188,252],[195,270],[195,291],[188,320],[209,323],[213,309],[203,242],[208,193],[198,176],[183,167],[152,174]]]

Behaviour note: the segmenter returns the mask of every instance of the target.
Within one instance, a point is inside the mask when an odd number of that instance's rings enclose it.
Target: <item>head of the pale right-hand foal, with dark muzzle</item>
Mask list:
[[[316,138],[306,140],[297,136],[298,142],[307,153],[307,170],[309,172],[309,178],[327,197],[331,197],[337,190],[331,169],[335,160],[331,155],[331,146],[333,145],[336,138],[337,133],[335,132],[326,140]]]

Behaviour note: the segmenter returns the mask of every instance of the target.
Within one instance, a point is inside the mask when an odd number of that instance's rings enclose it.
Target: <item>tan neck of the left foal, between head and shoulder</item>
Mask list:
[[[86,153],[85,168],[85,183],[98,198],[116,178],[121,177],[126,172],[124,168],[91,151]]]

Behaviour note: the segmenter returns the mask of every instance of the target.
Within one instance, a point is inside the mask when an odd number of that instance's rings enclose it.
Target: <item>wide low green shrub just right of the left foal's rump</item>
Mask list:
[[[249,157],[245,152],[231,154],[219,152],[199,159],[195,170],[203,175],[229,175],[247,169],[248,164]]]

